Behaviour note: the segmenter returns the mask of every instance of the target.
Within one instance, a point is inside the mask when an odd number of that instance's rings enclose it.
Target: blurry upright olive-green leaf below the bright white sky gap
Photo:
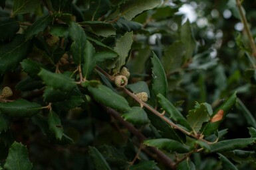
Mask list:
[[[190,27],[190,21],[186,21],[180,29],[180,40],[184,43],[186,48],[185,59],[189,60],[193,56],[193,50],[195,49],[195,39],[193,38],[192,29]]]

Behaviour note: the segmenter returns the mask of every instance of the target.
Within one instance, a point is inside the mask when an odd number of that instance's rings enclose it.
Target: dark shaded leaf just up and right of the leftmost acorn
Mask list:
[[[44,86],[45,85],[43,85],[42,81],[37,81],[28,77],[27,79],[17,83],[17,85],[15,85],[15,89],[18,89],[19,91],[33,91],[35,89],[41,89]]]

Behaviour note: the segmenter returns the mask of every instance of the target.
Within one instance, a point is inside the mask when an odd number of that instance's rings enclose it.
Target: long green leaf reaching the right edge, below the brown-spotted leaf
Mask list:
[[[233,140],[223,140],[215,144],[211,144],[211,152],[232,151],[235,149],[245,148],[256,142],[256,138],[238,138]]]

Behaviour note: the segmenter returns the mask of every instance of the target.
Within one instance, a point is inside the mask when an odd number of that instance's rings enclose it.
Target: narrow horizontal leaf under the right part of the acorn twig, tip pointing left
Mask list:
[[[189,146],[177,142],[176,140],[170,140],[165,138],[145,140],[144,145],[153,146],[158,149],[164,149],[166,151],[176,151],[178,153],[188,153],[190,151]]]

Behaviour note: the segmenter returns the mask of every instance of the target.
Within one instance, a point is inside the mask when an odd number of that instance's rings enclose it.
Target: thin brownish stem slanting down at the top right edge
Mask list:
[[[253,36],[251,34],[251,31],[249,29],[249,24],[247,22],[247,19],[245,17],[245,13],[243,13],[243,7],[241,5],[241,1],[240,0],[236,0],[237,1],[237,8],[239,11],[239,14],[241,16],[241,21],[243,22],[243,26],[245,27],[245,32],[249,38],[249,44],[251,46],[251,50],[252,50],[252,55],[253,57],[256,58],[256,45],[255,45],[255,41],[253,40]]]

